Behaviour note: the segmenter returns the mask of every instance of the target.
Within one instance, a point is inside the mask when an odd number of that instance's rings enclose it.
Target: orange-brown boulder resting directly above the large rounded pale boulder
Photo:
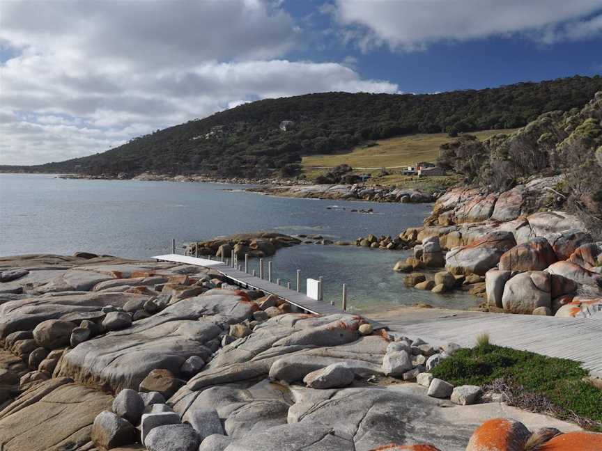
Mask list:
[[[500,257],[502,271],[543,271],[557,261],[548,240],[543,237],[518,244]]]

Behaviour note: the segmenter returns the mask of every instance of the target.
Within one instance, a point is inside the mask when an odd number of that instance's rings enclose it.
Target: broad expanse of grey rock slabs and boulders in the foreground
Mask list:
[[[458,345],[307,315],[215,269],[22,255],[0,277],[6,451],[477,451],[492,429],[525,443],[544,426],[602,440],[434,378]]]

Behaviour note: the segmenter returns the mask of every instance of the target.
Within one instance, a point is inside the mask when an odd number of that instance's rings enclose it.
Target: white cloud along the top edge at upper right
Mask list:
[[[543,43],[602,32],[600,0],[335,0],[344,40],[412,52],[435,42],[526,33]]]

